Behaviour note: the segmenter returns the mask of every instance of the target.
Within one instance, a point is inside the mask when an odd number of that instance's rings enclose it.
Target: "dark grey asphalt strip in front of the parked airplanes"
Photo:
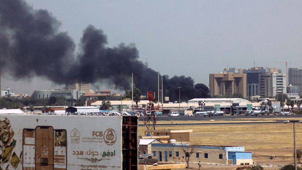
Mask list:
[[[204,117],[204,116],[175,116],[175,117],[170,117],[170,116],[158,116],[158,121],[160,120],[166,120],[166,121],[175,121],[175,120],[236,120],[236,119],[245,119],[245,120],[249,120],[251,118],[255,119],[261,119],[261,118],[265,118],[265,120],[267,119],[274,119],[274,118],[284,118],[283,120],[290,120],[291,118],[297,118],[300,117],[302,120],[302,115],[287,115],[287,116],[278,116],[278,115],[258,115],[258,116],[243,116],[243,115],[236,115],[236,116],[211,116],[211,117]],[[283,120],[278,120],[278,121],[283,121]],[[244,121],[244,120],[242,120]],[[250,120],[249,120],[250,121]],[[257,120],[255,120],[257,121]]]

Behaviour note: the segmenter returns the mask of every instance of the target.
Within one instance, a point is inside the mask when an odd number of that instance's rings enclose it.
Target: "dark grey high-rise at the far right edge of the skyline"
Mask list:
[[[298,94],[302,94],[302,68],[288,68],[288,84],[298,86]]]

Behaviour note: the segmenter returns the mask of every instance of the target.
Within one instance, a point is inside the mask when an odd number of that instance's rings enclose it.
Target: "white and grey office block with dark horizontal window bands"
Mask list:
[[[273,97],[277,93],[286,93],[286,75],[284,73],[261,73],[259,82],[261,96]]]

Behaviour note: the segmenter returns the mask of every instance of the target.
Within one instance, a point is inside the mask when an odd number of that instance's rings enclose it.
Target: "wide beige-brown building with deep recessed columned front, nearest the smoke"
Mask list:
[[[233,72],[222,72],[210,74],[210,94],[211,95],[230,95],[234,93],[242,94],[246,97],[247,74]]]

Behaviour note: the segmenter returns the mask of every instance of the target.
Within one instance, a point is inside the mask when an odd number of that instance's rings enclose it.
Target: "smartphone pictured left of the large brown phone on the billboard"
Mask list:
[[[23,129],[23,170],[36,167],[36,129]]]

